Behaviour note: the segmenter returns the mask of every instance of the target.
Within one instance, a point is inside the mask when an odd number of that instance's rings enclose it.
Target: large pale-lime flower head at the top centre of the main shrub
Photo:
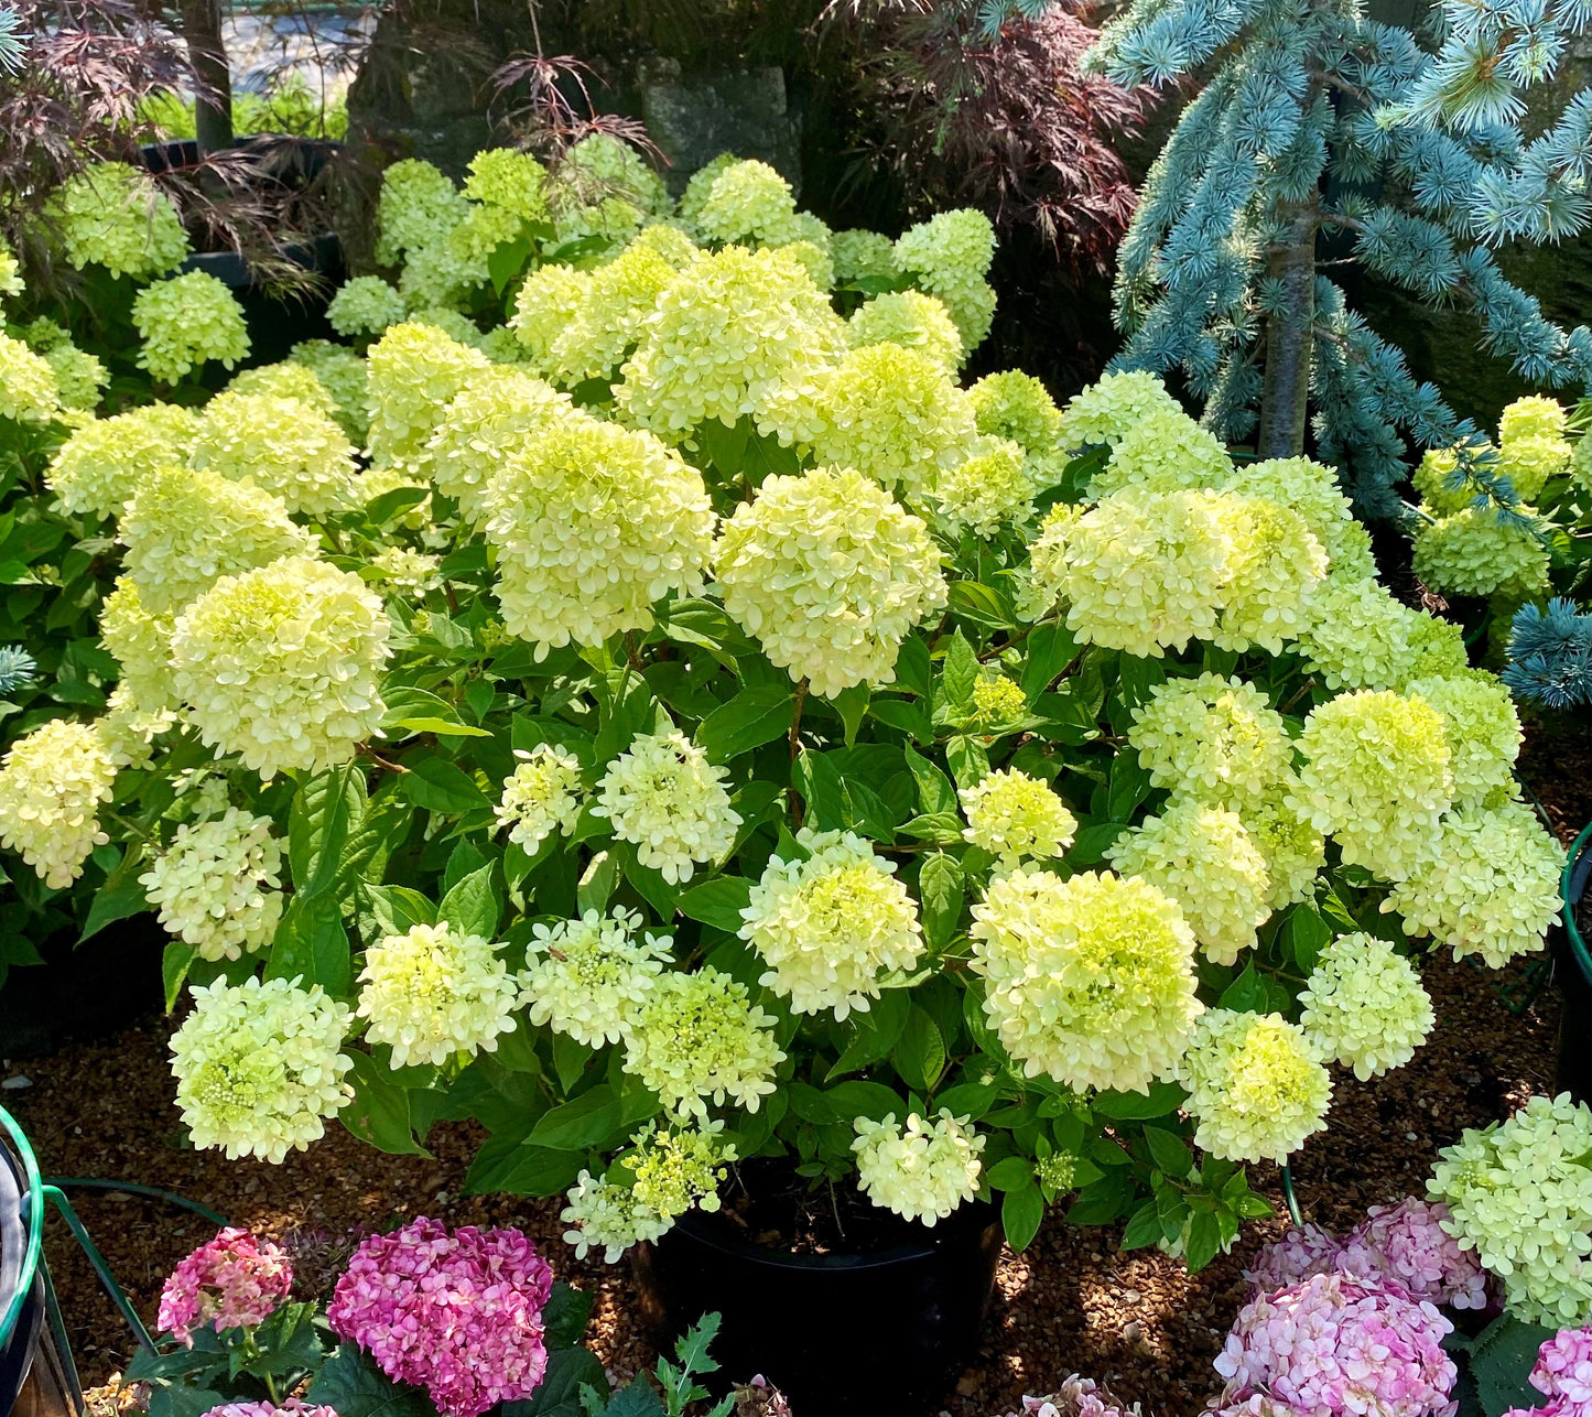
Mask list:
[[[619,408],[680,441],[707,419],[751,417],[812,441],[818,381],[845,350],[845,325],[799,261],[778,250],[704,252],[657,298],[615,388]]]

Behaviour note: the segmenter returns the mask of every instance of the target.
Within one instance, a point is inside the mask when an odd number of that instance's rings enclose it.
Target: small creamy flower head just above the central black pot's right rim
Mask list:
[[[915,1111],[899,1127],[895,1113],[882,1122],[856,1118],[856,1183],[874,1205],[925,1226],[944,1220],[979,1193],[984,1137],[950,1108],[925,1121]]]

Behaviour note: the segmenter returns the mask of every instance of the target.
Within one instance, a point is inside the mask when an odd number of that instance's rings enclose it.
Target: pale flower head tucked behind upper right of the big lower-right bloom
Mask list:
[[[1140,876],[1183,908],[1194,938],[1218,965],[1254,946],[1270,914],[1270,874],[1243,818],[1183,798],[1146,817],[1106,850],[1124,876]]]

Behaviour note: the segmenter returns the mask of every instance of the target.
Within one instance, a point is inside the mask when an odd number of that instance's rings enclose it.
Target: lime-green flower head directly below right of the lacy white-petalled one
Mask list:
[[[624,1070],[681,1119],[707,1118],[708,1099],[756,1111],[775,1091],[774,1070],[783,1060],[774,1016],[712,965],[659,974],[624,1040]]]

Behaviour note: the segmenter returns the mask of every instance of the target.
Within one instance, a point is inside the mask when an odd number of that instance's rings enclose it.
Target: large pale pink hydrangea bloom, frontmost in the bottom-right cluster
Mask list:
[[[1212,1407],[1254,1417],[1453,1417],[1436,1306],[1334,1271],[1251,1301],[1216,1356]],[[1254,1398],[1262,1401],[1256,1403]]]

